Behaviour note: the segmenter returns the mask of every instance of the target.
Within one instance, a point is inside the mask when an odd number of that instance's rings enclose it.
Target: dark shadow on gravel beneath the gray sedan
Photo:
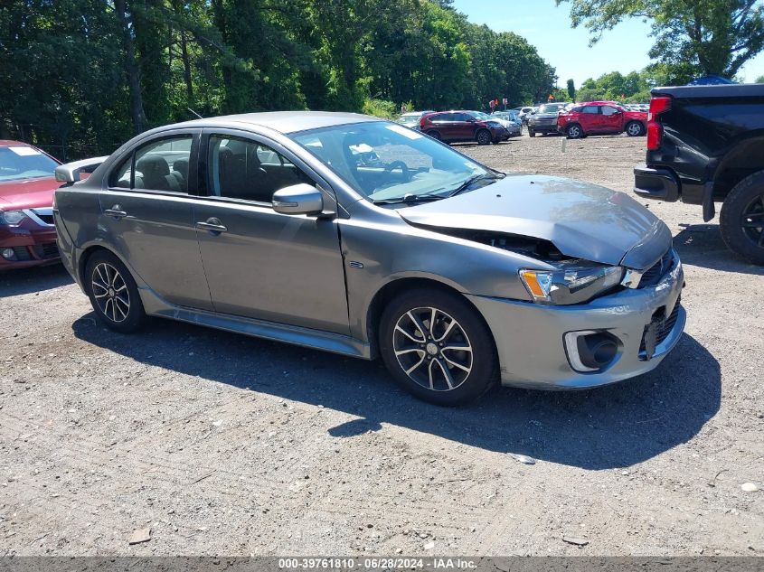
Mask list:
[[[719,363],[684,334],[653,372],[600,389],[496,389],[465,408],[410,397],[381,361],[362,361],[288,344],[151,320],[121,335],[94,314],[72,325],[85,342],[133,360],[355,416],[328,430],[338,438],[408,427],[455,443],[529,455],[585,469],[636,464],[691,439],[719,409]]]

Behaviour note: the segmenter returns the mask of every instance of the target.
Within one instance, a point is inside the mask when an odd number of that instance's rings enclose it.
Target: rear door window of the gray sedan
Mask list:
[[[174,136],[139,147],[111,174],[109,184],[122,189],[188,192],[193,136]]]

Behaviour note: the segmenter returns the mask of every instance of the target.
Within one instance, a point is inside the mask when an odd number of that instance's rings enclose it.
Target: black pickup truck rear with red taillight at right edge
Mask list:
[[[640,196],[703,205],[729,248],[764,264],[764,84],[652,90]]]

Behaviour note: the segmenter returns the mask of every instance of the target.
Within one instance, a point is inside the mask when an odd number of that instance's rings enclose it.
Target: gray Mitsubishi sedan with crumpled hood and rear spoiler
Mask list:
[[[453,405],[499,380],[625,380],[684,328],[671,233],[636,201],[499,173],[373,117],[199,119],[57,177],[61,258],[121,333],[151,315],[381,356]]]

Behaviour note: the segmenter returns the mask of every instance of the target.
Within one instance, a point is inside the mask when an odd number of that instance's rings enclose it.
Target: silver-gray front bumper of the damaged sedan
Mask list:
[[[679,341],[686,314],[677,307],[673,324],[647,359],[647,326],[656,315],[671,316],[684,286],[678,256],[655,285],[624,289],[583,305],[539,305],[469,295],[494,334],[502,384],[533,389],[585,389],[627,380],[654,370]],[[564,334],[594,330],[618,338],[618,352],[599,372],[573,370]]]

